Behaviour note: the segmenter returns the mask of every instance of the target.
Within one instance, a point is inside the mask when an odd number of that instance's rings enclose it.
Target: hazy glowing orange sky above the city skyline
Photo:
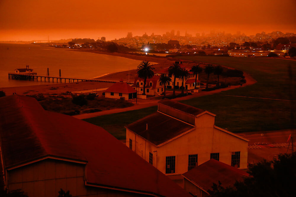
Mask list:
[[[181,35],[241,31],[296,32],[295,0],[0,0],[0,40]]]

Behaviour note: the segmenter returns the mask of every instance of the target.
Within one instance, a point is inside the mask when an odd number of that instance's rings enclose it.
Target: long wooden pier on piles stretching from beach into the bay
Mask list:
[[[107,82],[107,83],[116,83],[119,81],[110,81],[110,80],[101,80],[101,79],[79,79],[79,78],[68,78],[68,77],[56,77],[56,76],[41,76],[41,75],[37,75],[37,74],[18,74],[18,73],[8,73],[8,78],[12,78],[12,79],[32,79],[33,81],[36,80],[38,81],[38,78],[40,79],[40,81],[42,81],[42,78],[44,79],[45,82],[50,82],[52,79],[52,82],[54,82],[54,79],[57,80],[57,82],[62,83],[62,81],[66,80],[70,83],[70,82],[75,82],[75,81],[81,81],[81,82]]]

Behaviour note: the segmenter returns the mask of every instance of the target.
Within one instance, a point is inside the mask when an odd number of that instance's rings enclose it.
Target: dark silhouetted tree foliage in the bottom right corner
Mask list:
[[[296,193],[296,152],[279,154],[278,159],[263,160],[249,168],[251,175],[233,187],[213,184],[208,192],[212,197],[292,197]]]

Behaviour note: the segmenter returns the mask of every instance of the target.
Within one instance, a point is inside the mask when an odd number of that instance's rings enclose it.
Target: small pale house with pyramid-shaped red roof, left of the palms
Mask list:
[[[137,97],[136,90],[132,88],[129,84],[126,82],[123,82],[122,79],[120,79],[119,82],[116,82],[112,86],[110,86],[105,91],[105,97],[106,98],[115,98],[115,99],[132,99]]]

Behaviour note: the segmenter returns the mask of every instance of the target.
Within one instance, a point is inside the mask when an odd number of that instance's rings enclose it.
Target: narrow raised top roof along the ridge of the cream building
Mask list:
[[[194,115],[194,116],[199,115],[200,113],[205,111],[205,110],[195,108],[190,105],[183,104],[181,102],[172,101],[169,99],[163,99],[161,101],[158,101],[158,103],[168,106],[168,107],[171,107],[171,108],[174,108],[176,110]]]

